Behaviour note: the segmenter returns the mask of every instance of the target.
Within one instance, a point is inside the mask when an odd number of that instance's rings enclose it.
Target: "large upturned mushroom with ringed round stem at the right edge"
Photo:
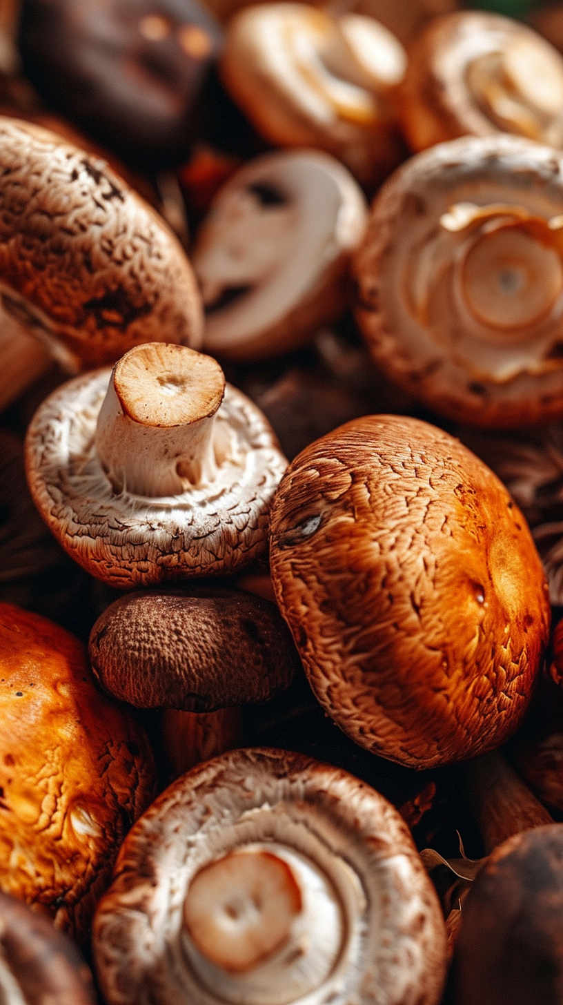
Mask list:
[[[563,414],[563,161],[513,137],[418,154],[356,255],[376,363],[434,411],[510,427]]]

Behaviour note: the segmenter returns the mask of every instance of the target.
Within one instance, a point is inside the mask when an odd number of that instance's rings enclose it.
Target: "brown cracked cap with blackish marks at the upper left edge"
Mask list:
[[[67,365],[201,344],[199,293],[164,220],[108,164],[0,117],[0,296]]]

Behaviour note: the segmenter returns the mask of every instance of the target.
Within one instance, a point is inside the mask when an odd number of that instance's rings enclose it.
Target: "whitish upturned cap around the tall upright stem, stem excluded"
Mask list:
[[[215,423],[228,448],[211,487],[157,498],[125,488],[116,494],[95,442],[110,376],[104,369],[68,381],[27,431],[31,494],[65,551],[125,589],[250,563],[265,550],[269,500],[287,465],[261,412],[227,384]]]

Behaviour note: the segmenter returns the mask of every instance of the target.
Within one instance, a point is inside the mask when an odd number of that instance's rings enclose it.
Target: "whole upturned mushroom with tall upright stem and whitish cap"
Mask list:
[[[62,547],[126,589],[250,563],[287,464],[215,360],[163,343],[56,390],[26,454],[31,494]]]

